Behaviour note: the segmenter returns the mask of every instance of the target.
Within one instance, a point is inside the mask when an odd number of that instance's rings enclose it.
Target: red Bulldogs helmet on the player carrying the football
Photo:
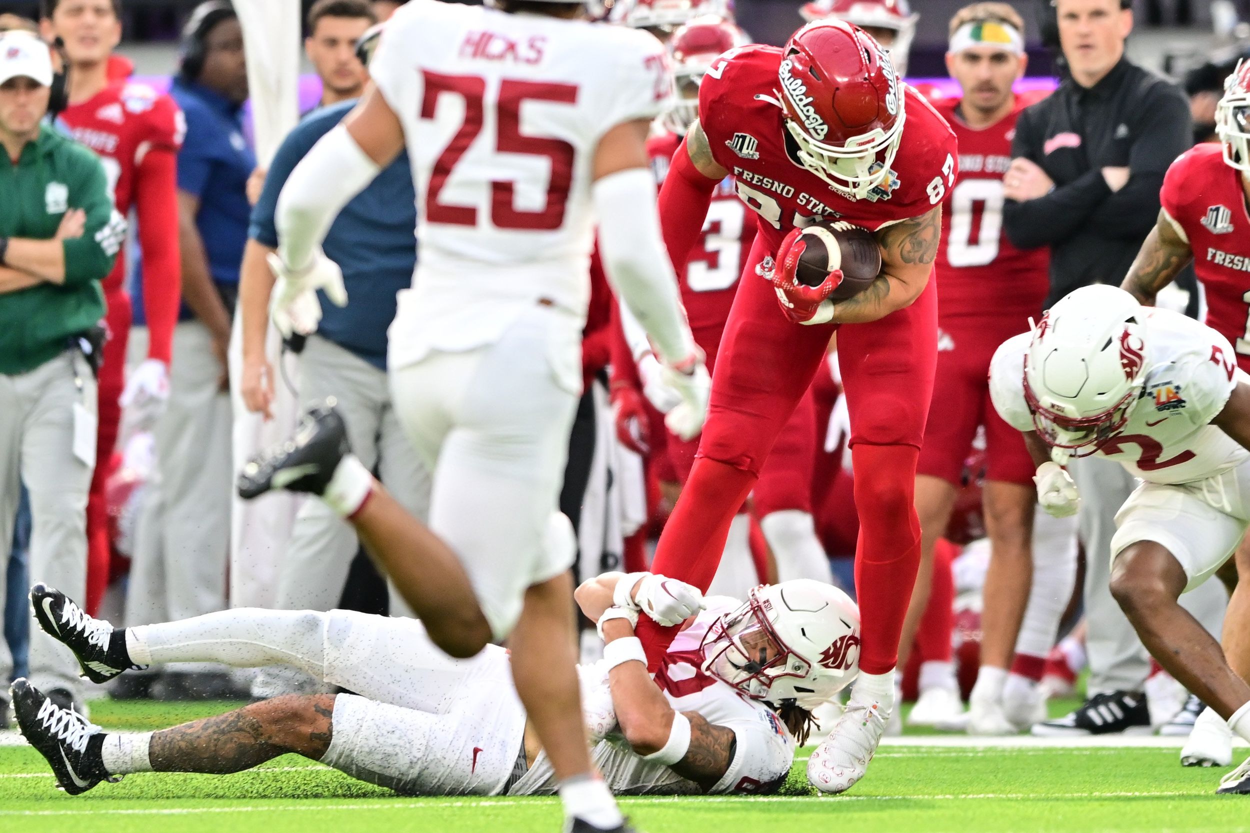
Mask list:
[[[781,109],[799,160],[839,193],[875,199],[889,186],[906,116],[889,54],[848,23],[818,20],[782,55]]]

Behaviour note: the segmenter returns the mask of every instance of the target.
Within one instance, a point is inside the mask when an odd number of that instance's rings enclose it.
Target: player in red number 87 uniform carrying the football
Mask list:
[[[700,85],[699,113],[660,193],[672,261],[686,261],[726,176],[760,230],[718,355],[699,457],[655,564],[708,587],[734,513],[846,324],[839,363],[861,520],[862,673],[808,767],[818,788],[842,792],[862,777],[894,709],[899,634],[920,563],[912,495],[938,343],[929,275],[941,201],[955,184],[955,136],[885,50],[842,21],[809,24],[782,49],[722,55]],[[795,280],[796,229],[818,216],[876,235],[881,273],[854,298],[830,300],[840,270],[819,286]],[[658,655],[668,634],[644,635]]]

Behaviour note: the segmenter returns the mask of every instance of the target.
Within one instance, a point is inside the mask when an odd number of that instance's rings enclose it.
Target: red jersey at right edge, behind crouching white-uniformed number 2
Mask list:
[[[1250,371],[1250,215],[1241,173],[1219,143],[1192,148],[1168,169],[1159,200],[1180,225],[1206,294],[1206,325],[1226,338]]]

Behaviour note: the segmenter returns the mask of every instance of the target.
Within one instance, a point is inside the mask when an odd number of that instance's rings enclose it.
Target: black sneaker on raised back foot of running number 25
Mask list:
[[[330,396],[310,410],[291,439],[249,460],[239,473],[239,497],[249,500],[274,489],[321,494],[334,469],[351,452],[348,428]]]

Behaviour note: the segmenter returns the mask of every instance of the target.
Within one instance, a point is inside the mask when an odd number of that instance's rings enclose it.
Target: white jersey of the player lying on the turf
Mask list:
[[[669,647],[664,667],[655,682],[678,712],[698,712],[714,725],[734,730],[736,748],[725,775],[710,793],[756,793],[769,790],[786,777],[794,763],[794,738],[772,710],[759,700],[744,697],[738,689],[699,670],[702,643],[708,628],[722,614],[736,610],[741,603],[729,597],[708,597],[708,609],[678,634]],[[582,700],[598,703],[608,688],[608,669],[602,660],[581,665]],[[692,794],[699,785],[686,780],[669,767],[642,760],[620,734],[609,734],[595,744],[595,765],[604,780],[618,794]],[[540,754],[525,775],[509,790],[510,795],[549,794],[555,792],[555,775],[546,754]]]

